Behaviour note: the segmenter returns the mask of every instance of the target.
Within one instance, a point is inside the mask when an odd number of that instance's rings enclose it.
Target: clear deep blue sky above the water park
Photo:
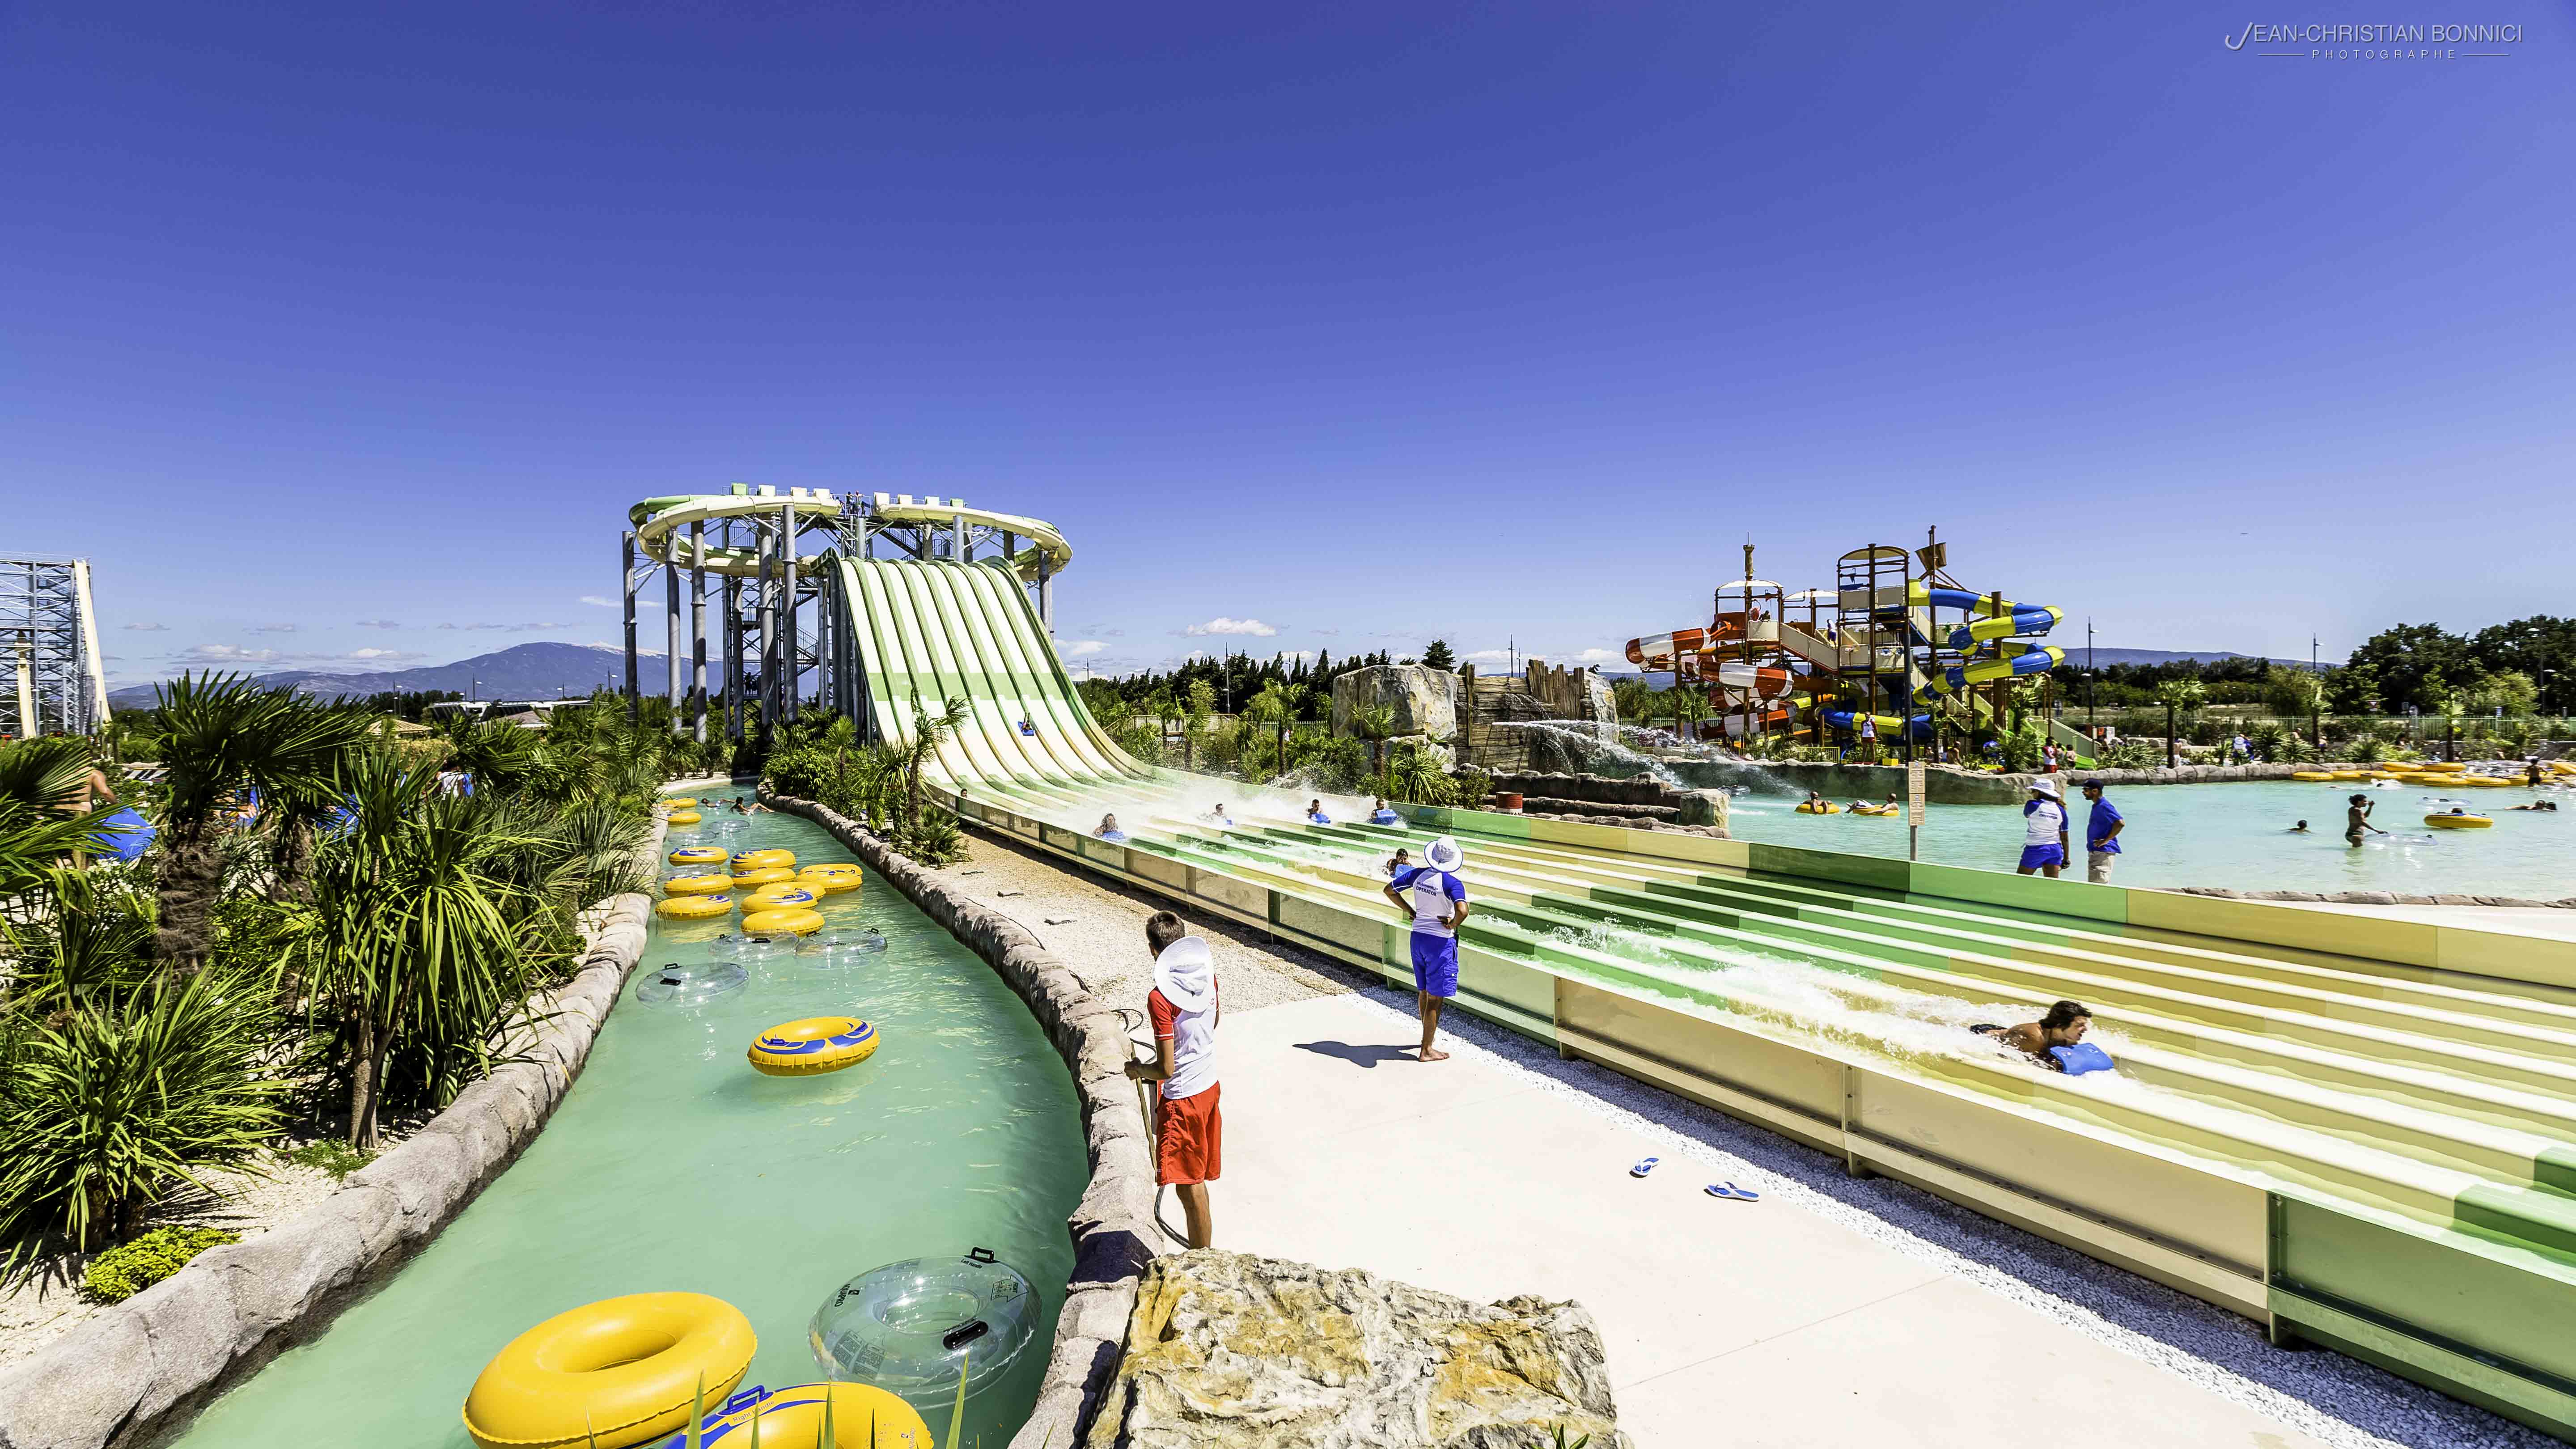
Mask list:
[[[2576,10],[2259,18],[21,3],[0,547],[121,681],[613,639],[623,505],[734,480],[1056,521],[1108,668],[1615,652],[1927,523],[2074,642],[2568,611]]]

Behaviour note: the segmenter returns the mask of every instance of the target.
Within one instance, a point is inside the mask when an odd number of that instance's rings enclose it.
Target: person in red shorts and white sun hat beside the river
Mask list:
[[[1144,923],[1144,944],[1154,951],[1154,990],[1144,998],[1146,1016],[1154,1018],[1154,1060],[1128,1062],[1128,1075],[1162,1083],[1154,1106],[1154,1181],[1180,1196],[1190,1248],[1206,1248],[1216,1240],[1208,1183],[1226,1158],[1216,1085],[1216,1024],[1224,1018],[1216,954],[1170,910],[1157,910]]]

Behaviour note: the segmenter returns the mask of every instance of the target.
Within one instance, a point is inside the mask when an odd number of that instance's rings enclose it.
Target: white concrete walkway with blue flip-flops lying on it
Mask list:
[[[1919,1256],[1708,1168],[1368,995],[1224,1018],[1216,1243],[1473,1299],[1571,1297],[1641,1446],[2290,1449],[2311,1439]],[[1177,1204],[1167,1207],[1177,1222]]]

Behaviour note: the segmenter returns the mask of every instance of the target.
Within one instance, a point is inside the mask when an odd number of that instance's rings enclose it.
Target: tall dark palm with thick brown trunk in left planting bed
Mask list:
[[[366,740],[368,722],[245,676],[180,676],[160,688],[160,717],[170,794],[152,954],[165,972],[196,975],[214,949],[222,833],[240,807],[237,794],[247,794],[255,812],[276,804],[276,817],[294,825],[314,802],[332,799],[337,771]]]

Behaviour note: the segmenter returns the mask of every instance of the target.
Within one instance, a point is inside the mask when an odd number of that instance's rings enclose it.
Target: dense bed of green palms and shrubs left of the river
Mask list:
[[[371,1150],[518,1052],[577,967],[577,915],[649,884],[636,856],[667,732],[616,701],[554,730],[384,717],[180,678],[121,717],[157,828],[85,864],[106,810],[88,740],[0,750],[0,1261],[131,1238],[278,1134]],[[471,771],[474,794],[440,773]],[[93,807],[95,804],[95,807]]]

